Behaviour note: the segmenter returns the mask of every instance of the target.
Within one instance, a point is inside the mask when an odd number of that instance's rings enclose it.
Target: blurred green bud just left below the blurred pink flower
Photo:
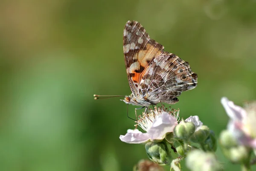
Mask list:
[[[221,148],[232,148],[238,145],[236,142],[236,139],[228,130],[221,131],[219,142],[220,142]]]

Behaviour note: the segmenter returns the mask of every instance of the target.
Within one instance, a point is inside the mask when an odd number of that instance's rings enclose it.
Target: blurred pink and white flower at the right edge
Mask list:
[[[256,148],[256,104],[248,104],[244,109],[226,97],[221,99],[221,104],[230,117],[228,130],[242,145]]]

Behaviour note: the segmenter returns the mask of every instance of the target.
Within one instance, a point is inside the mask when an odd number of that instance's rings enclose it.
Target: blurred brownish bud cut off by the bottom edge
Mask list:
[[[137,165],[134,166],[133,171],[164,171],[160,165],[149,160],[140,160]]]

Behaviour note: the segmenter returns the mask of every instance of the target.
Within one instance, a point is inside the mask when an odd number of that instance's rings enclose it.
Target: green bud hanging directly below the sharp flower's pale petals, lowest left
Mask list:
[[[159,165],[169,164],[172,160],[171,153],[164,142],[148,142],[145,149],[149,159]]]

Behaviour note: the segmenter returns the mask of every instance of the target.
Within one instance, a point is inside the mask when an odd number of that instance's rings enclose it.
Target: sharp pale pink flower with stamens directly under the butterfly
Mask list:
[[[147,141],[162,140],[165,138],[166,133],[173,132],[176,125],[178,125],[179,110],[171,110],[167,113],[163,108],[155,108],[148,114],[143,114],[137,121],[137,125],[140,126],[146,133],[142,133],[139,130],[127,130],[125,135],[121,135],[119,138],[122,142],[139,144]],[[196,125],[200,125],[200,121],[194,116],[188,122],[193,122]],[[188,119],[189,119],[188,118]],[[199,122],[198,122],[199,121]]]

